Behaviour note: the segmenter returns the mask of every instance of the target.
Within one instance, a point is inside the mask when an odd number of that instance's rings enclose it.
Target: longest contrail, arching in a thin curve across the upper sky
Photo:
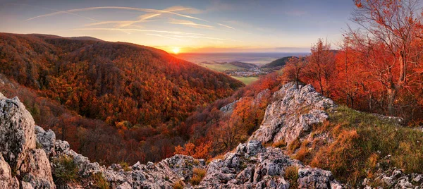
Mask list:
[[[185,17],[185,18],[191,18],[191,19],[195,19],[195,20],[202,20],[202,21],[205,21],[205,22],[209,22],[209,21],[203,20],[201,18],[183,15],[183,14],[180,14],[180,13],[173,13],[171,11],[157,10],[157,9],[152,9],[152,8],[133,8],[133,7],[126,7],[126,6],[97,6],[97,7],[89,7],[89,8],[77,8],[77,9],[71,9],[71,10],[67,10],[67,11],[56,11],[54,13],[48,13],[48,14],[44,14],[44,15],[40,15],[40,16],[35,16],[35,17],[32,17],[32,18],[28,18],[27,20],[34,20],[36,18],[42,18],[42,17],[46,17],[46,16],[54,16],[54,15],[58,15],[58,14],[61,14],[61,13],[74,13],[74,12],[80,12],[80,11],[92,11],[92,10],[97,10],[97,9],[123,9],[123,10],[132,10],[132,11],[142,11],[142,12],[148,12],[148,13],[169,13],[169,14],[173,14],[173,15],[177,15],[177,16],[182,16],[182,17]]]

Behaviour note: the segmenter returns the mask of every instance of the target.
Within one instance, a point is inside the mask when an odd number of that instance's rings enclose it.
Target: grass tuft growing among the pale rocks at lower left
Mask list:
[[[63,155],[53,161],[53,178],[55,183],[71,183],[78,181],[78,166],[72,157]]]

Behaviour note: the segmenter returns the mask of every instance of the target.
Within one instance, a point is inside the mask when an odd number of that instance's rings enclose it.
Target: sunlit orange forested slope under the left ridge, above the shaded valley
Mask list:
[[[152,47],[0,34],[0,73],[88,118],[157,126],[242,83]]]

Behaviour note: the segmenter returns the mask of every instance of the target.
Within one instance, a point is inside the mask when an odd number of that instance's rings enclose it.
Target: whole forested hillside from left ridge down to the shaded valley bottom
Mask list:
[[[152,47],[51,35],[1,33],[0,73],[11,80],[1,91],[23,99],[39,126],[108,162],[168,157],[183,142],[180,121],[243,86]],[[110,135],[121,147],[107,147]]]

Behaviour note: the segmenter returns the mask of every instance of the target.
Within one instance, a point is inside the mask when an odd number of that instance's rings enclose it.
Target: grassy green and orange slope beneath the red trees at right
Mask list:
[[[398,127],[345,106],[329,117],[329,121],[315,126],[314,132],[329,133],[333,142],[309,152],[308,159],[304,157],[312,166],[329,169],[338,180],[350,185],[372,178],[378,162],[405,173],[423,173],[421,131]],[[388,154],[391,158],[384,159]]]

